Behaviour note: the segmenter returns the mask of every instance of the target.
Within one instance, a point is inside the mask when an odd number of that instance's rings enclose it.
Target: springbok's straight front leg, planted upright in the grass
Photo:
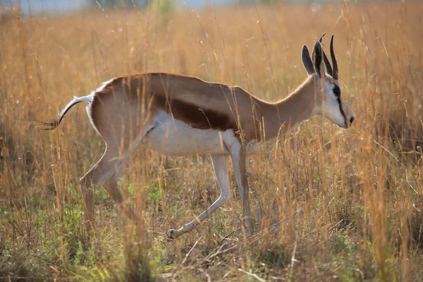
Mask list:
[[[247,227],[247,231],[252,234],[252,217],[249,197],[250,188],[248,188],[247,169],[245,168],[247,158],[245,147],[238,142],[233,144],[229,149],[231,151],[233,171],[235,173],[236,182],[238,183],[241,200],[243,201],[245,226]]]

